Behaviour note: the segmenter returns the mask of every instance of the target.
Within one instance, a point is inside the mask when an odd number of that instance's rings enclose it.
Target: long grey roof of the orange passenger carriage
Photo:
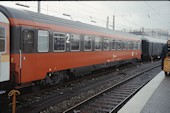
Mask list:
[[[77,29],[92,30],[96,32],[102,32],[102,33],[112,34],[112,35],[121,35],[121,36],[125,36],[125,38],[131,37],[134,38],[135,40],[140,40],[140,38],[138,38],[136,35],[130,33],[106,29],[103,27],[98,27],[94,25],[85,24],[82,22],[62,19],[62,18],[40,14],[32,11],[14,9],[14,8],[5,7],[1,5],[0,5],[0,11],[3,12],[8,18],[17,18],[17,19],[30,20],[30,21],[41,22],[41,23],[52,24],[52,25],[73,27]]]

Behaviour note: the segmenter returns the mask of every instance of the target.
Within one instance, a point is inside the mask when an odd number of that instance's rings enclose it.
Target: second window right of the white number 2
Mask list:
[[[92,50],[92,37],[84,36],[84,50],[91,51]]]

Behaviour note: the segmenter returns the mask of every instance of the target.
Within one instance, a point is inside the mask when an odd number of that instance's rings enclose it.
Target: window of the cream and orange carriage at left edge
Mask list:
[[[0,52],[5,52],[5,28],[0,27]]]

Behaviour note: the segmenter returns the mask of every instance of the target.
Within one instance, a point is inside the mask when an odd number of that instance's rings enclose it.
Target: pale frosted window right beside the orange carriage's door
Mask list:
[[[38,30],[38,52],[49,51],[49,32]]]

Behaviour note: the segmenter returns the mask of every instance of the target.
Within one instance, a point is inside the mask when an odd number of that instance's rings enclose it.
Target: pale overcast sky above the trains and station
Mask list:
[[[1,1],[0,5],[37,12],[37,1]],[[41,1],[41,13],[100,27],[106,27],[109,17],[110,29],[114,15],[116,30],[144,28],[170,32],[170,1]]]

